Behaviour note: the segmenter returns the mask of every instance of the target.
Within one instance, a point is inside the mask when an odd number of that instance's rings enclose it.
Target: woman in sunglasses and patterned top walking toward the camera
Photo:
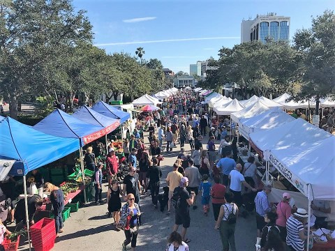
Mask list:
[[[127,245],[131,243],[131,250],[135,251],[137,235],[139,231],[139,217],[141,215],[140,206],[135,203],[135,196],[129,193],[126,197],[126,204],[121,209],[121,219],[119,225],[124,229],[126,240],[122,243],[122,251],[127,250]]]

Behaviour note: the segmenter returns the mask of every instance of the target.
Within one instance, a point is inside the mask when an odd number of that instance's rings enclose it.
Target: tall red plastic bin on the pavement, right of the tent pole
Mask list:
[[[54,220],[43,218],[31,226],[31,242],[35,251],[49,251],[54,248],[56,227]]]

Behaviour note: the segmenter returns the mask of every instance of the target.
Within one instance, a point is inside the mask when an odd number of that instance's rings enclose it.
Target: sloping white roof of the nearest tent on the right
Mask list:
[[[323,133],[330,135],[325,131]],[[299,136],[308,139],[303,132],[300,132]],[[270,154],[292,173],[290,182],[306,197],[307,184],[311,184],[313,199],[335,200],[334,149],[335,137],[330,136],[318,142],[311,142],[305,147],[295,145],[290,149],[271,150]]]

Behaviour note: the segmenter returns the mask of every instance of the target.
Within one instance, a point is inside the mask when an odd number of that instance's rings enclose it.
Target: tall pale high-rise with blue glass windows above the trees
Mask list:
[[[278,40],[290,38],[290,17],[277,16],[276,13],[257,15],[254,20],[242,20],[241,43],[260,40],[265,43],[267,37]]]

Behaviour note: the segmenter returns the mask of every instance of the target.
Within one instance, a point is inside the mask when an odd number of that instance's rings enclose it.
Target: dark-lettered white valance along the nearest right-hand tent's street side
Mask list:
[[[297,188],[300,192],[302,192],[304,195],[307,195],[307,184],[301,181],[301,179],[296,176],[295,174],[292,174],[290,169],[286,167],[273,153],[269,153],[269,161],[271,164],[276,167],[276,169],[283,174],[283,176],[290,181],[292,185]]]

